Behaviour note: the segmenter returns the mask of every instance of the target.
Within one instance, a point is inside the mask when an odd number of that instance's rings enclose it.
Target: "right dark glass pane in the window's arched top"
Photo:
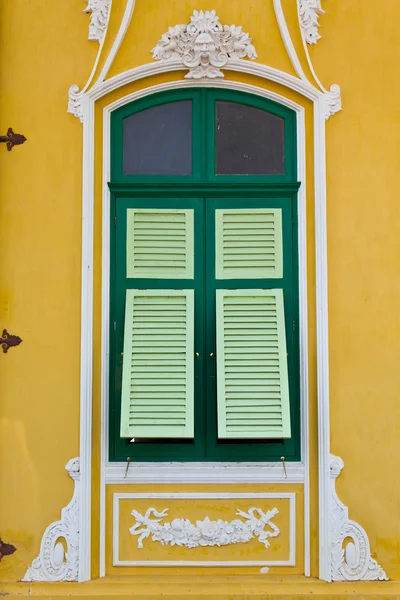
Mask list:
[[[264,110],[216,103],[217,175],[282,175],[284,119]]]

